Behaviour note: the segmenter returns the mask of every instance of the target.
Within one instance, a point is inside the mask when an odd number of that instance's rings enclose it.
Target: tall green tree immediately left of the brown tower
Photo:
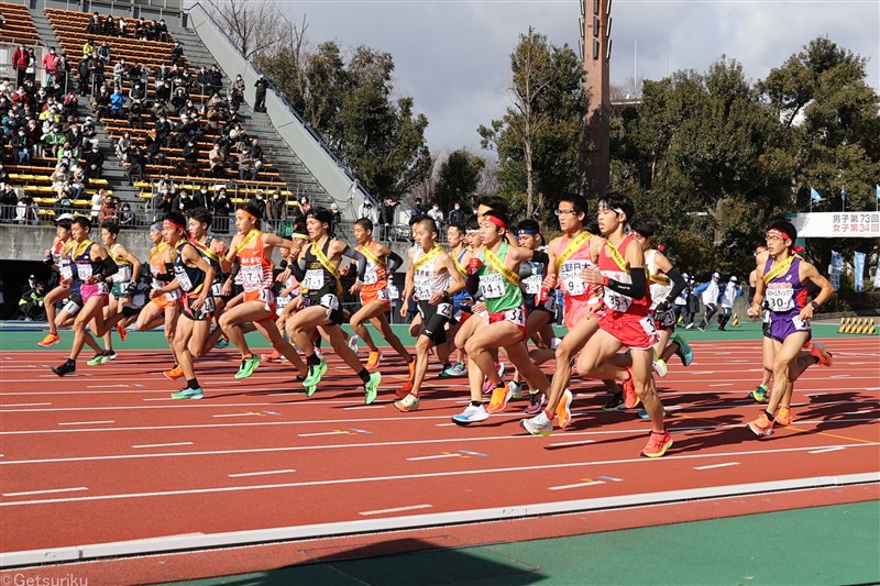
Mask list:
[[[510,68],[512,106],[477,132],[482,146],[498,153],[502,192],[531,217],[536,209],[546,213],[549,197],[578,189],[583,69],[568,45],[558,47],[531,27],[510,54]]]

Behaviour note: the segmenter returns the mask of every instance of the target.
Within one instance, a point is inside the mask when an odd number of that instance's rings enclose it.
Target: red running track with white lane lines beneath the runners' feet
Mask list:
[[[466,402],[464,379],[431,378],[421,409],[398,412],[399,362],[383,363],[383,391],[365,407],[336,357],[306,399],[289,367],[264,364],[234,380],[235,356],[212,353],[198,365],[206,398],[174,401],[168,392],[180,385],[162,378],[167,363],[155,353],[125,352],[97,367],[80,361],[76,376],[58,379],[47,367],[63,353],[11,352],[1,364],[0,553],[9,565],[22,563],[12,552],[133,540],[152,541],[90,555],[235,542],[210,542],[229,532],[272,541],[827,486],[853,475],[876,482],[880,342],[827,345],[835,365],[799,382],[795,422],[758,440],[744,425],[759,409],[745,397],[760,377],[760,343],[694,344],[691,367],[671,364],[658,379],[675,440],[660,460],[639,457],[650,422],[603,412],[607,397],[580,380],[571,427],[532,438],[517,424],[522,401],[483,424],[451,423]],[[311,527],[319,523],[336,524]]]

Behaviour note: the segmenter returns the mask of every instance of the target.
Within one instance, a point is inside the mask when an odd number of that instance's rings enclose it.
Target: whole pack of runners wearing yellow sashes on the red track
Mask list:
[[[150,228],[148,277],[141,278],[141,262],[117,242],[119,226],[101,225],[103,244],[98,244],[90,240],[87,218],[62,217],[46,259],[57,267],[61,285],[46,298],[51,331],[40,344],[57,343],[57,329],[73,327],[70,355],[53,368],[64,376],[76,372],[84,345],[96,351],[89,364],[112,360],[111,331],[124,339],[132,323],[142,331],[164,325],[174,364],[163,374],[186,379],[172,397],[200,399],[196,365],[212,349],[228,343],[238,349],[235,378],[260,366],[261,357],[245,340],[253,329],[273,346],[262,360],[289,362],[311,397],[328,371],[319,351],[323,340],[361,379],[370,405],[380,390],[383,358],[366,328],[371,323],[407,364],[407,380],[395,389],[394,406],[402,412],[419,409],[433,353],[442,364],[439,377],[468,377],[470,401],[452,417],[455,423],[485,421],[513,398],[524,398],[527,417],[520,425],[530,434],[549,435],[554,427],[571,423],[569,387],[576,372],[606,385],[606,410],[641,405],[639,417],[652,428],[641,454],[662,456],[672,438],[654,375],[667,375],[673,355],[690,365],[693,353],[674,331],[674,300],[685,277],[653,247],[658,224],[637,218],[631,200],[618,192],[598,199],[595,222],[584,198],[561,198],[556,209],[561,235],[547,243],[534,220],[510,225],[502,198],[482,197],[475,211],[465,225],[449,225],[449,248],[438,243],[433,219],[411,221],[414,245],[399,305],[400,316],[408,318],[409,301],[415,301],[413,351],[388,323],[391,277],[404,259],[373,240],[369,219],[355,222],[352,247],[330,231],[329,210],[310,210],[284,239],[262,232],[260,210],[244,203],[235,211],[237,234],[227,246],[208,234],[207,210],[196,210],[188,220],[169,213]],[[765,314],[765,379],[750,396],[767,406],[748,423],[759,436],[769,435],[774,423],[791,422],[792,390],[801,374],[833,361],[822,344],[811,344],[810,329],[813,310],[828,299],[831,285],[798,254],[790,222],[773,221],[766,237],[767,245],[756,252],[748,310],[752,318]],[[277,266],[272,259],[276,247]],[[348,316],[342,280],[352,272],[349,292],[360,297],[361,307]],[[557,291],[566,327],[561,339],[551,327]],[[65,298],[56,314],[55,303]],[[370,349],[365,364],[341,328],[346,321]],[[95,336],[103,336],[103,349]],[[556,366],[548,377],[541,365],[550,361]],[[507,383],[505,364],[515,365]]]

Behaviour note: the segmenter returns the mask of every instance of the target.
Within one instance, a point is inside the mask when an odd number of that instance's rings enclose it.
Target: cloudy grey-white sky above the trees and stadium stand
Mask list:
[[[392,53],[397,88],[428,117],[435,153],[479,148],[476,128],[504,112],[509,54],[530,25],[575,51],[580,38],[579,0],[282,1],[299,19],[305,12],[314,43]],[[723,54],[758,80],[827,35],[868,57],[869,82],[880,87],[879,0],[614,0],[612,18],[612,84],[634,67],[648,79],[704,71]]]

